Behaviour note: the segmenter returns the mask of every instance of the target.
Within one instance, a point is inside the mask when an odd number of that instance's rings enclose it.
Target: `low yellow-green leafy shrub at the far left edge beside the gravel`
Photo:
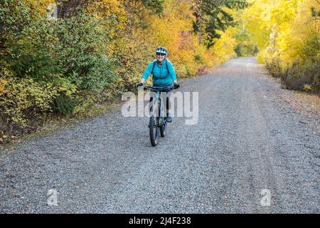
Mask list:
[[[51,102],[58,89],[52,84],[34,81],[33,78],[9,78],[6,93],[0,95],[0,113],[4,119],[1,131],[26,132],[51,111]],[[11,129],[6,128],[10,125]]]

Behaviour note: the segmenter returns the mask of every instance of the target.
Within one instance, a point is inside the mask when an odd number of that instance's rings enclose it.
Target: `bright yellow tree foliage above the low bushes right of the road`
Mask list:
[[[311,16],[311,8],[319,11],[317,0],[252,1],[244,11],[242,21],[260,49],[258,61],[279,58],[284,64],[295,59],[316,56],[310,51],[312,40],[319,39],[319,17]],[[308,50],[309,49],[309,50]],[[312,49],[312,48],[311,48]]]

